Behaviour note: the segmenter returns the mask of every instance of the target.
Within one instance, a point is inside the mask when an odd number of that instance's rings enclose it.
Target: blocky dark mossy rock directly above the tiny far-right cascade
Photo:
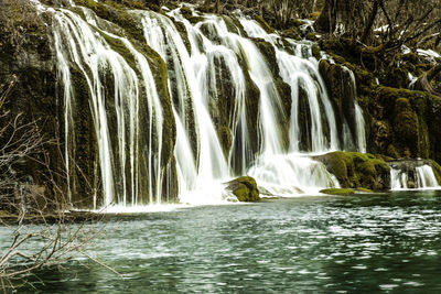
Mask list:
[[[368,104],[372,150],[391,157],[441,160],[441,98],[376,87]]]

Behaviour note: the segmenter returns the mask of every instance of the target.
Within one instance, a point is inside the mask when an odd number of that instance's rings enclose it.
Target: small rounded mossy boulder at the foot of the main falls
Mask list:
[[[233,193],[241,203],[251,203],[260,200],[259,189],[256,179],[250,176],[241,176],[226,183],[226,190]]]

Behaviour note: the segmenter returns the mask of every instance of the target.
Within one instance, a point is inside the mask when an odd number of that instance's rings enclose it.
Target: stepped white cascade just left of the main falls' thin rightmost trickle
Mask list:
[[[318,72],[318,62],[312,57],[311,44],[288,40],[289,47],[283,47],[279,35],[268,34],[256,21],[240,18],[240,23],[249,36],[263,39],[275,47],[280,76],[291,86],[290,151],[323,153],[338,150],[334,111]],[[309,122],[303,129],[302,121]],[[324,126],[329,126],[329,133]],[[311,143],[301,148],[304,141]]]

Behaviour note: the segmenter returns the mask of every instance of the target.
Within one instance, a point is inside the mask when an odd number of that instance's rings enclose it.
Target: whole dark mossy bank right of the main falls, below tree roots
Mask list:
[[[336,102],[337,118],[341,117],[340,105],[344,104],[338,104],[336,97],[345,96],[340,87],[338,68],[345,66],[354,73],[356,99],[366,119],[369,152],[395,159],[441,161],[441,98],[405,89],[410,84],[408,76],[420,76],[432,66],[429,62],[413,53],[388,53],[387,59],[363,54],[362,47],[347,39],[324,39],[320,44],[335,62],[331,65],[322,61],[320,73]]]

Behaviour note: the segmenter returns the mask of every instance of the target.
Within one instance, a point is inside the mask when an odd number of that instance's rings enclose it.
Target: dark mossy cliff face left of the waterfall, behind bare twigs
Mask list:
[[[23,6],[18,9],[17,6]],[[55,181],[60,181],[58,188],[63,192],[66,186],[63,185],[64,171],[63,160],[58,146],[54,142],[60,138],[58,122],[61,119],[60,109],[62,105],[57,99],[56,91],[56,70],[55,62],[52,58],[52,37],[45,23],[50,23],[51,18],[46,13],[36,14],[32,6],[26,2],[7,0],[2,1],[0,9],[0,90],[4,90],[11,81],[15,80],[15,86],[11,89],[4,104],[1,105],[0,112],[0,145],[4,148],[12,135],[12,129],[15,129],[14,143],[23,135],[29,128],[35,128],[41,131],[45,154],[43,151],[30,154],[30,157],[23,157],[19,165],[8,166],[9,173],[13,171],[18,185],[20,181],[31,184],[46,186],[42,190],[47,196],[53,196],[55,187],[47,181],[50,170],[53,171]],[[3,92],[2,92],[3,94]],[[17,123],[17,128],[10,127]],[[22,126],[33,127],[26,130],[19,130]],[[3,130],[3,128],[6,128]],[[17,145],[15,145],[17,148]],[[6,150],[8,152],[8,150]],[[39,163],[42,162],[43,164]],[[3,193],[3,192],[0,192]]]

